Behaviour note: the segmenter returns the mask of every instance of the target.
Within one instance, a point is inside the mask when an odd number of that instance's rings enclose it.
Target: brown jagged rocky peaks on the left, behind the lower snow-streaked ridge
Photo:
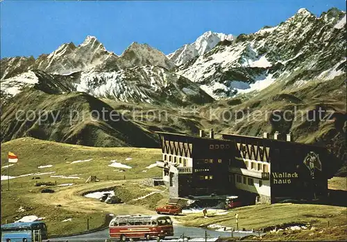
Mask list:
[[[33,57],[1,59],[1,80],[28,70],[43,70],[52,74],[70,74],[94,70],[98,72],[120,70],[126,67],[158,65],[167,69],[174,67],[167,56],[149,45],[133,42],[121,56],[107,51],[94,36],[87,36],[81,45],[70,42],[61,45],[51,54]]]

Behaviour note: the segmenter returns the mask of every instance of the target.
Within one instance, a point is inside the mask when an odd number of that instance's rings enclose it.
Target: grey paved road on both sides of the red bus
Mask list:
[[[173,237],[167,237],[164,241],[176,239],[182,234],[185,234],[185,236],[189,236],[191,238],[203,238],[201,241],[205,241],[205,231],[208,233],[208,238],[218,238],[221,237],[228,237],[231,236],[230,232],[217,232],[210,229],[203,229],[200,227],[185,227],[181,225],[174,225],[174,236]],[[257,235],[256,233],[253,233],[254,235]],[[235,237],[243,237],[251,235],[251,233],[233,233],[233,236]],[[108,229],[104,229],[99,232],[94,232],[90,234],[81,234],[76,236],[70,236],[70,237],[63,237],[58,239],[49,239],[50,242],[85,242],[85,241],[93,241],[93,242],[104,242],[105,239],[108,239]],[[148,241],[147,241],[148,242]]]

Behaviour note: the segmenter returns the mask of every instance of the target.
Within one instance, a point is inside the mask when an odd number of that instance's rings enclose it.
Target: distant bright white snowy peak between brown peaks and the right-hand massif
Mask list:
[[[174,53],[167,55],[167,57],[176,65],[182,65],[187,61],[192,60],[192,58],[210,51],[219,42],[223,40],[232,41],[233,39],[234,37],[232,35],[208,31],[203,33],[203,35],[197,38],[192,44],[183,45],[183,47],[180,47],[180,49],[177,49]]]

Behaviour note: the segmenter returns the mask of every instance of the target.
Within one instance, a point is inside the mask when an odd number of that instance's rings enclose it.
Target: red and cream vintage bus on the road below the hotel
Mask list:
[[[110,239],[164,239],[174,235],[174,227],[169,216],[116,216],[110,222]]]

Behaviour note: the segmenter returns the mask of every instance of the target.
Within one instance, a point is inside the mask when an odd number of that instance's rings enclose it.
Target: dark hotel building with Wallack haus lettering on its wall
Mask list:
[[[329,166],[335,156],[325,147],[263,138],[219,134],[208,138],[158,132],[162,148],[162,177],[170,197],[251,195],[255,201],[274,203],[285,199],[324,197]]]

